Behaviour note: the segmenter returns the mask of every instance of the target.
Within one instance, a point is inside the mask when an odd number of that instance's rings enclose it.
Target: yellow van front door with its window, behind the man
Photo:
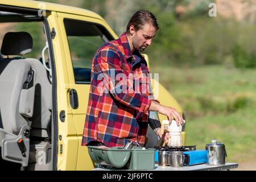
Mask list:
[[[57,13],[55,23],[57,42],[61,42],[61,45],[56,46],[59,49],[56,52],[63,59],[56,60],[56,64],[61,65],[56,65],[56,69],[60,69],[59,77],[64,76],[65,85],[60,94],[62,105],[58,102],[59,110],[65,112],[65,121],[59,123],[59,147],[62,152],[58,155],[58,168],[91,170],[95,166],[87,147],[81,146],[81,140],[88,106],[92,59],[98,48],[114,39],[114,33],[109,33],[112,30],[106,28],[102,20],[87,16]]]

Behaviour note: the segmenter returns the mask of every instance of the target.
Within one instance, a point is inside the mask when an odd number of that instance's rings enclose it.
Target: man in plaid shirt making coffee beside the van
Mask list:
[[[152,118],[150,126],[162,137],[157,112],[170,121],[174,118],[177,125],[183,123],[174,108],[153,100],[147,63],[139,53],[151,45],[158,28],[152,13],[139,10],[131,17],[126,32],[105,43],[94,55],[83,146],[125,146],[129,141],[143,146],[148,115]],[[139,82],[137,88],[135,82]],[[165,142],[168,143],[168,133]]]

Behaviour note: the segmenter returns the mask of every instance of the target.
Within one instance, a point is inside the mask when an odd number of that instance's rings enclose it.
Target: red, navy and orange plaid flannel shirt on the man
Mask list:
[[[92,63],[82,146],[90,141],[108,147],[125,146],[130,140],[144,144],[148,108],[154,99],[148,73],[146,60],[138,51],[131,52],[125,33],[98,49]]]

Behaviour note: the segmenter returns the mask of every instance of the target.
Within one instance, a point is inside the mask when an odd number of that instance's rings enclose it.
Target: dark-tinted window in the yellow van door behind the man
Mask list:
[[[64,19],[76,84],[90,84],[92,59],[112,36],[98,24]]]

